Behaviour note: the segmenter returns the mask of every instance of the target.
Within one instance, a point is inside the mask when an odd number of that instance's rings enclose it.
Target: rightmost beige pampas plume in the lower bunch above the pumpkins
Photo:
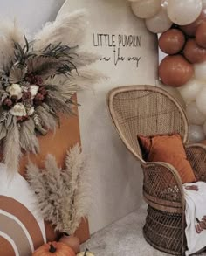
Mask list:
[[[91,206],[88,163],[86,163],[86,156],[80,152],[78,144],[67,152],[65,166],[66,168],[63,171],[64,182],[69,184],[72,195],[70,225],[65,223],[65,232],[73,233],[78,228],[80,219],[88,216]],[[69,230],[67,230],[68,227]]]

